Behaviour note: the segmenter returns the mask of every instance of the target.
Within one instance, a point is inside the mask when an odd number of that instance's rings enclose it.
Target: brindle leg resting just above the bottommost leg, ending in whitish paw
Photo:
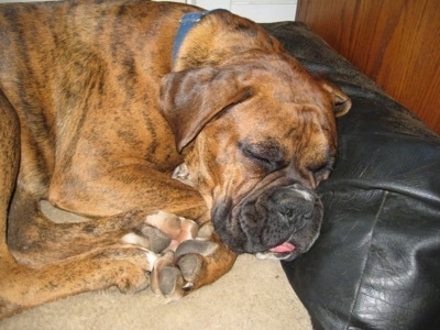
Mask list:
[[[85,222],[55,223],[18,188],[9,212],[8,246],[19,263],[41,265],[88,252],[90,246],[112,245],[134,233],[142,238],[143,248],[158,253],[180,234],[180,221],[177,217],[161,222],[152,218],[143,210],[132,210]]]

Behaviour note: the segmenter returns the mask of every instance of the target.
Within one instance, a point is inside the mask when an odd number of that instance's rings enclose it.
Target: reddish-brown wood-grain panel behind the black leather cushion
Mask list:
[[[296,20],[440,133],[440,2],[299,0]]]

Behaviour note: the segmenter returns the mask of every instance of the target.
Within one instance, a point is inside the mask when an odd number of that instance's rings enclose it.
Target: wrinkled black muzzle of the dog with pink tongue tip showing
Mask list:
[[[293,260],[317,240],[322,204],[299,185],[275,187],[237,206],[231,200],[218,204],[212,222],[220,239],[238,253]]]

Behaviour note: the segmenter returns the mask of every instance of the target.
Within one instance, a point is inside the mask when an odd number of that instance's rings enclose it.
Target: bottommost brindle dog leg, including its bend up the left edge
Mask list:
[[[21,265],[7,244],[8,210],[19,168],[20,128],[0,90],[0,319],[46,301],[118,286],[134,292],[148,284],[155,254],[127,243],[90,249],[61,262]],[[91,246],[94,248],[94,246]]]

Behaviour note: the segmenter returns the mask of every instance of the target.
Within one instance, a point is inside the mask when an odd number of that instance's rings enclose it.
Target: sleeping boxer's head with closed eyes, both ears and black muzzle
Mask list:
[[[168,74],[161,106],[230,249],[289,260],[310,249],[322,220],[314,189],[334,164],[334,117],[351,106],[338,87],[265,55]]]

